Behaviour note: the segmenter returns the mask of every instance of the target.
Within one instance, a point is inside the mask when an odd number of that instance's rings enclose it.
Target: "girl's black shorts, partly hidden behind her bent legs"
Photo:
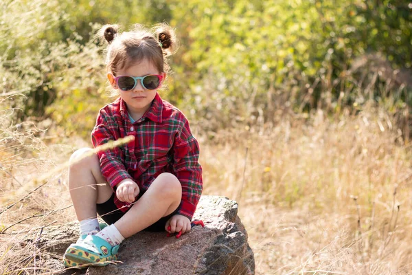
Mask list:
[[[137,197],[137,199],[140,199],[141,195]],[[117,206],[115,205],[115,193],[111,196],[110,199],[108,199],[104,203],[97,203],[97,210],[99,216],[105,221],[108,225],[111,225],[118,221],[121,217],[123,217],[126,212],[122,212],[122,210],[119,210]],[[110,214],[107,214],[110,212]],[[148,228],[144,229],[144,231],[150,231],[150,232],[161,232],[165,231],[165,225],[166,222],[174,215],[176,214],[177,209],[172,212],[172,214],[169,214],[166,217],[162,217],[159,219],[159,221],[156,221],[152,225],[150,225]]]

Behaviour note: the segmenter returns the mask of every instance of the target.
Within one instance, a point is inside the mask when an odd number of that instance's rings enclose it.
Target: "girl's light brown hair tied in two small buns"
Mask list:
[[[167,57],[177,50],[174,31],[166,23],[155,25],[152,31],[136,24],[130,32],[118,33],[119,25],[104,25],[98,36],[108,43],[106,66],[116,76],[119,70],[139,63],[150,61],[159,71],[169,70]]]

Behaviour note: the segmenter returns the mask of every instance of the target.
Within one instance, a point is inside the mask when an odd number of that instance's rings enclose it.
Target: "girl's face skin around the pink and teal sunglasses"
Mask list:
[[[158,72],[156,67],[150,61],[144,59],[140,63],[135,63],[127,68],[121,69],[117,72],[117,76],[147,76],[148,74],[162,75],[163,79],[166,74]],[[133,118],[141,117],[150,108],[153,99],[156,96],[157,89],[150,90],[141,86],[140,81],[137,81],[136,87],[130,91],[122,91],[117,87],[113,78],[108,77],[112,87],[118,89],[120,97],[126,102],[126,106],[130,115]]]

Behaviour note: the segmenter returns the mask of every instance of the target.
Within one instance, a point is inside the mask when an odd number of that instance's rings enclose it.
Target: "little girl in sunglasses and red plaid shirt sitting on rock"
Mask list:
[[[71,156],[69,188],[80,221],[80,238],[65,252],[67,267],[107,265],[119,244],[141,230],[190,231],[202,192],[198,142],[189,122],[157,90],[168,72],[165,60],[176,47],[166,24],[148,32],[136,25],[117,34],[117,25],[100,32],[108,42],[107,78],[117,100],[100,109],[91,133],[93,146],[134,135],[122,146],[84,157]],[[100,230],[97,214],[108,226]]]

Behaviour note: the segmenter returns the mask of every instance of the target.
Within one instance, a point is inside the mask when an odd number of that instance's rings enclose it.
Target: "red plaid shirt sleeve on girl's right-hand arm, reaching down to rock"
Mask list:
[[[199,146],[187,120],[174,138],[174,175],[182,185],[182,201],[177,214],[192,220],[203,190],[202,167],[198,163]]]

